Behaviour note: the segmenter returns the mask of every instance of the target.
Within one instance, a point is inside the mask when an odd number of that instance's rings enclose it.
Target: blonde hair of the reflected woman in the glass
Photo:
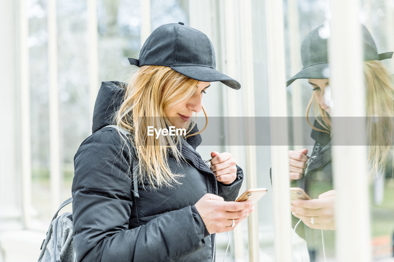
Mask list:
[[[385,172],[393,168],[390,163],[394,156],[394,85],[393,77],[387,68],[378,60],[364,61],[364,81],[366,86],[366,131],[368,162],[370,174]],[[316,120],[326,130],[314,127],[308,119],[310,107]],[[316,105],[317,104],[317,105]],[[314,94],[307,107],[307,122],[315,130],[331,133],[331,118],[317,102]]]

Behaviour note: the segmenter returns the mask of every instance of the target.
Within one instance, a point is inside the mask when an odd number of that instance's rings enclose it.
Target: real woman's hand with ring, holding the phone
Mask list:
[[[194,206],[210,234],[232,231],[255,210],[252,201],[224,201],[215,194],[205,194]],[[232,220],[235,221],[234,227],[231,227]]]

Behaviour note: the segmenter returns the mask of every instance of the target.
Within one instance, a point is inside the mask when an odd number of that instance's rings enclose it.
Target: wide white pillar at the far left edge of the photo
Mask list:
[[[0,128],[0,231],[9,229],[6,221],[20,220],[22,216],[20,187],[20,103],[22,91],[19,87],[22,72],[18,72],[20,54],[19,18],[17,1],[0,2],[0,35],[8,41],[2,42],[0,48],[0,79],[9,79],[7,84],[0,86],[0,111],[2,114],[2,128]],[[20,20],[20,19],[19,19]],[[20,20],[22,21],[22,20]],[[26,45],[24,45],[26,48]],[[26,52],[25,52],[26,53]],[[22,54],[20,54],[22,55]],[[24,63],[25,59],[22,59]],[[23,64],[22,64],[23,65]],[[19,98],[17,100],[10,98]],[[23,148],[23,146],[22,146]],[[14,175],[10,175],[14,174]],[[14,196],[14,197],[9,197]],[[4,220],[3,220],[4,219]]]

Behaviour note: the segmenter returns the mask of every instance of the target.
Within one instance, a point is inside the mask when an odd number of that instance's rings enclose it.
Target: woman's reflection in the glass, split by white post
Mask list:
[[[329,81],[327,58],[327,28],[323,25],[310,32],[301,46],[303,69],[287,81],[305,78],[312,86],[312,97],[307,107],[307,119],[311,107],[316,120],[311,137],[315,140],[312,159],[308,162],[307,149],[289,151],[290,179],[297,186],[303,187],[312,200],[296,200],[292,203],[293,221],[302,221],[297,225],[297,233],[307,240],[311,261],[316,251],[333,244],[335,232],[335,190],[331,166],[331,117],[333,101]],[[386,169],[393,156],[392,118],[372,116],[394,116],[394,86],[390,73],[379,60],[392,57],[392,52],[378,54],[375,42],[365,26],[362,26],[364,48],[364,79],[366,85],[367,136],[369,147],[368,161],[370,173],[378,177]],[[349,99],[351,101],[351,99]],[[360,160],[362,162],[362,160]],[[319,229],[319,230],[316,230]],[[322,230],[325,230],[324,232]],[[327,250],[327,247],[326,247]]]

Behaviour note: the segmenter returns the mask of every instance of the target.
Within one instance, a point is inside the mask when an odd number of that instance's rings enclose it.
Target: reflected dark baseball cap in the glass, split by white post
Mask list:
[[[327,37],[329,35],[328,25],[321,25],[310,32],[301,44],[301,60],[303,68],[295,76],[288,79],[289,86],[296,79],[326,79],[329,78],[329,62]],[[374,39],[368,29],[361,24],[362,45],[364,61],[383,60],[391,58],[393,52],[378,54]]]

